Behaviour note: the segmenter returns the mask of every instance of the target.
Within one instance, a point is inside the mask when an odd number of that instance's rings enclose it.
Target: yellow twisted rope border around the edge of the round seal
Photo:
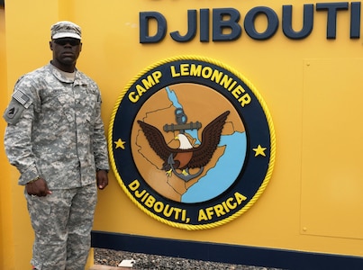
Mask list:
[[[123,100],[123,96],[130,89],[130,87],[137,81],[137,79],[139,79],[141,76],[148,73],[150,70],[154,69],[155,67],[159,67],[160,65],[167,64],[168,62],[177,61],[177,60],[198,60],[198,61],[204,61],[204,62],[212,63],[213,65],[223,67],[224,69],[230,71],[235,76],[239,77],[246,85],[249,86],[252,93],[255,94],[255,96],[259,100],[259,103],[260,103],[263,111],[265,112],[265,116],[266,116],[267,121],[268,121],[268,128],[269,128],[269,132],[270,132],[270,141],[271,141],[270,159],[269,159],[268,172],[267,172],[267,174],[265,176],[265,179],[263,180],[263,183],[259,186],[259,190],[257,191],[257,193],[255,193],[255,195],[252,197],[252,199],[250,199],[250,202],[248,202],[243,208],[241,208],[240,211],[235,212],[234,214],[232,214],[228,218],[225,218],[224,220],[219,220],[219,221],[209,223],[209,224],[188,225],[188,224],[184,224],[184,223],[177,223],[177,222],[174,222],[174,221],[170,221],[170,220],[160,218],[158,215],[153,214],[152,212],[150,212],[148,209],[143,207],[143,205],[140,202],[138,202],[132,196],[132,193],[130,193],[129,190],[126,188],[126,186],[123,184],[123,180],[122,180],[121,176],[119,175],[119,173],[117,171],[115,160],[113,158],[113,123],[114,123],[114,117],[115,117],[116,112],[117,112],[117,110],[119,108],[119,105]],[[273,171],[274,166],[275,166],[276,134],[275,134],[274,125],[273,125],[273,122],[272,122],[272,117],[271,117],[271,114],[268,111],[267,104],[265,103],[262,96],[259,94],[259,92],[255,88],[255,86],[252,85],[250,83],[250,81],[245,76],[242,76],[240,74],[240,72],[238,72],[236,69],[234,69],[232,67],[229,67],[229,66],[223,64],[222,62],[217,61],[217,60],[215,60],[213,58],[207,58],[207,57],[201,57],[201,56],[195,56],[195,55],[184,55],[184,56],[165,58],[163,60],[160,60],[160,61],[150,65],[149,67],[144,68],[141,72],[139,72],[139,74],[137,76],[133,77],[133,79],[123,88],[123,91],[119,95],[119,97],[118,97],[118,99],[117,99],[117,101],[116,101],[116,103],[114,105],[113,112],[112,112],[112,115],[111,115],[111,121],[110,121],[109,129],[108,129],[108,149],[109,149],[109,156],[110,156],[111,166],[113,168],[113,173],[116,176],[116,179],[117,179],[118,183],[123,188],[123,192],[127,194],[127,196],[132,200],[132,202],[135,203],[141,209],[141,211],[144,211],[145,213],[147,213],[150,217],[152,217],[155,220],[158,220],[160,222],[168,224],[169,226],[176,227],[176,228],[179,228],[179,229],[187,229],[187,230],[212,229],[212,228],[218,227],[220,225],[226,224],[227,222],[230,222],[231,220],[234,220],[237,217],[239,217],[245,211],[248,211],[250,209],[250,207],[259,199],[259,196],[265,191],[266,186],[268,185],[268,182],[269,182],[269,180],[271,178],[271,175],[272,175],[272,171]]]

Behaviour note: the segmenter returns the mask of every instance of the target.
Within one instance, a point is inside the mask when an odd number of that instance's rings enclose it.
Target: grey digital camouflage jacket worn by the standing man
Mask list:
[[[51,64],[22,76],[4,118],[19,184],[41,176],[50,190],[73,188],[95,183],[96,168],[109,169],[101,95],[78,70],[74,82]]]

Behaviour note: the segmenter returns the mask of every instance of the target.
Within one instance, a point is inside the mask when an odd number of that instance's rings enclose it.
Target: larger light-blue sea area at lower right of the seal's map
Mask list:
[[[207,174],[182,195],[181,202],[204,202],[227,190],[240,175],[246,157],[245,132],[222,135],[220,146],[226,146],[224,154]]]

